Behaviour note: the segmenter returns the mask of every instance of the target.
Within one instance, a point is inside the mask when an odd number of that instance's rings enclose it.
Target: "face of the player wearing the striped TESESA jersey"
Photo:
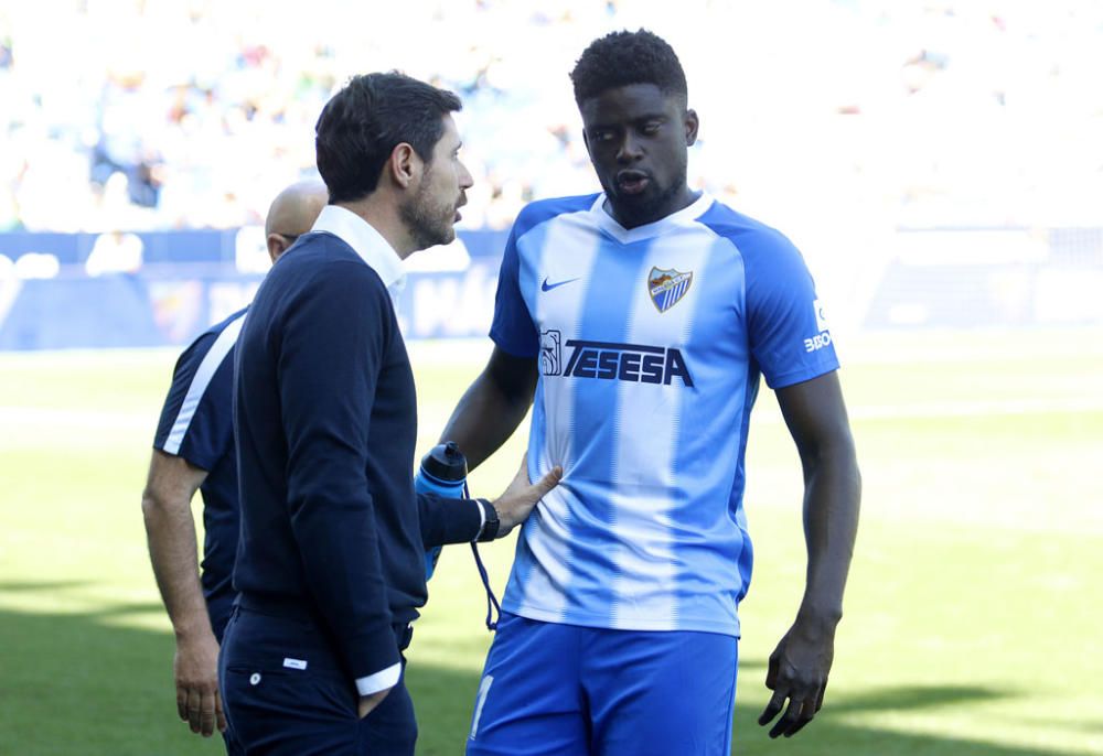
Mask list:
[[[689,205],[687,148],[697,140],[697,114],[654,84],[608,89],[582,102],[590,162],[612,215],[625,228]]]

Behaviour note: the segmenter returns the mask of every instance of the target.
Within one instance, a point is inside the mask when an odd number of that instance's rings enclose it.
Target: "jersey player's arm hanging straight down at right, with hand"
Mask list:
[[[861,480],[836,371],[778,390],[778,403],[804,469],[808,564],[796,619],[770,656],[773,696],[759,724],[784,715],[770,737],[795,734],[823,705],[843,616],[843,590],[858,527]]]

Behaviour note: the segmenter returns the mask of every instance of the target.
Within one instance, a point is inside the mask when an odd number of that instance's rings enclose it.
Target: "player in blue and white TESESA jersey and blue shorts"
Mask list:
[[[564,469],[521,531],[467,752],[726,755],[760,377],[803,463],[808,550],[760,723],[784,709],[770,735],[792,735],[823,703],[859,501],[838,361],[793,245],[687,185],[698,117],[670,45],[609,34],[571,80],[603,192],[520,214],[494,352],[443,434],[478,465],[535,396],[529,475]]]

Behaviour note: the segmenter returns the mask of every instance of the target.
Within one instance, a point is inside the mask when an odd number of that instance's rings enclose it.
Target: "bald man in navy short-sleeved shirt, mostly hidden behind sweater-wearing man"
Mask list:
[[[280,192],[265,220],[272,262],[310,230],[328,197],[318,181]],[[231,404],[234,349],[246,312],[207,330],[176,361],[142,495],[150,561],[176,638],[176,712],[194,733],[223,731],[231,754],[244,752],[226,728],[217,659],[236,596],[231,579],[239,507]],[[203,495],[202,576],[191,510],[196,490]]]

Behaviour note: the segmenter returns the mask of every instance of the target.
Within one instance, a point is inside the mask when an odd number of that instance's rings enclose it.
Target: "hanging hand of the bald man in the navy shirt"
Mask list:
[[[215,727],[225,732],[226,715],[218,696],[218,641],[210,629],[176,638],[172,672],[180,719],[203,737],[211,737]]]

